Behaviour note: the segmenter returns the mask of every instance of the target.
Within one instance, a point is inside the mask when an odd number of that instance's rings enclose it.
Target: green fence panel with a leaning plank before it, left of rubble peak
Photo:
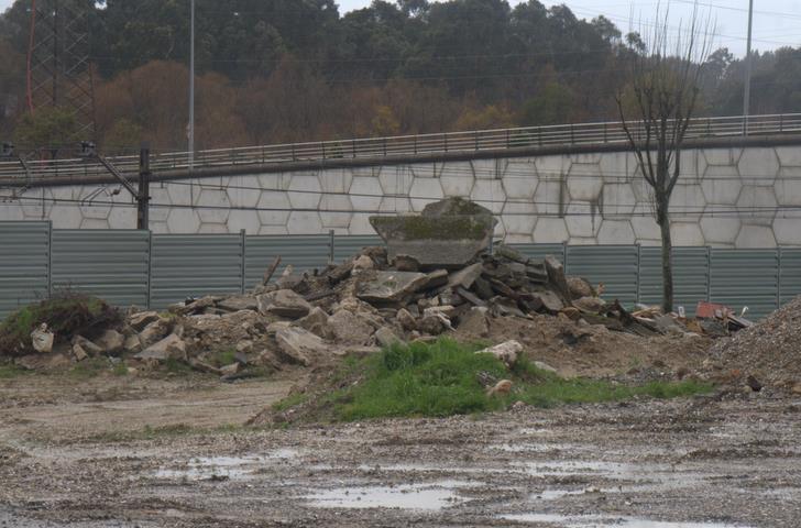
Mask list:
[[[330,257],[331,238],[328,234],[260,234],[250,235],[245,240],[245,288],[252,288],[262,282],[264,271],[281,256],[281,266],[275,271],[279,275],[292,264],[295,272],[307,272],[322,268]]]

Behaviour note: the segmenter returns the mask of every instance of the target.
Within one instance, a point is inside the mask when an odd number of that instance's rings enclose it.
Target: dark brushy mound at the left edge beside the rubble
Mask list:
[[[33,352],[31,332],[43,322],[55,334],[55,341],[63,342],[76,333],[90,333],[120,320],[120,314],[97,297],[58,294],[20,308],[0,323],[0,355],[19,356]]]

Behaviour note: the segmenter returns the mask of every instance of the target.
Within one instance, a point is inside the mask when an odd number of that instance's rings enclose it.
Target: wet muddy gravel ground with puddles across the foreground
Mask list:
[[[0,381],[0,527],[801,524],[801,399],[241,427],[295,381]]]

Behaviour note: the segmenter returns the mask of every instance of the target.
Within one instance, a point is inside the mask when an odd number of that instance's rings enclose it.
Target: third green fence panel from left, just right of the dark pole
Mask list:
[[[243,240],[240,234],[154,234],[151,308],[187,297],[240,293]]]

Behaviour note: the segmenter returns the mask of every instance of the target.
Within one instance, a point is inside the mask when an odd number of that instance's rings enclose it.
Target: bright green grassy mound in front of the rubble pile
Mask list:
[[[383,417],[446,417],[501,410],[522,400],[539,407],[633,397],[671,398],[710,392],[693,381],[623,385],[610,381],[564,380],[520,359],[512,369],[479,345],[450,339],[394,344],[380,354],[351,360],[329,380],[322,395],[293,395],[274,411],[290,421],[350,421]],[[508,394],[487,395],[490,380],[511,380]],[[338,387],[338,388],[337,388]]]

